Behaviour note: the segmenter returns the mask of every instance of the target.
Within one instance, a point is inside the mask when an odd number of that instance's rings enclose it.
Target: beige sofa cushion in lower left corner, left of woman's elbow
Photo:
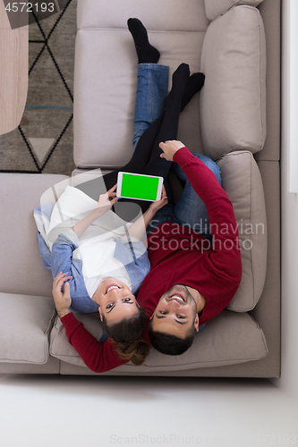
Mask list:
[[[0,308],[0,362],[47,363],[54,300],[0,293]]]

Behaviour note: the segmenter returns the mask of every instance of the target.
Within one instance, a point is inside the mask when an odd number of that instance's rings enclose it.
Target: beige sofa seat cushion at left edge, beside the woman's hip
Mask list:
[[[0,291],[51,296],[53,278],[39,256],[33,210],[40,207],[40,198],[49,188],[47,201],[55,203],[68,179],[58,174],[0,174],[0,246],[4,253]]]

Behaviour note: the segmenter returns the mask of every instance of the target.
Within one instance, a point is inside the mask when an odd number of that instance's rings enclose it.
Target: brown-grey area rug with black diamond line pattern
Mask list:
[[[29,25],[29,88],[18,129],[0,136],[0,172],[64,173],[74,169],[72,95],[76,0]]]

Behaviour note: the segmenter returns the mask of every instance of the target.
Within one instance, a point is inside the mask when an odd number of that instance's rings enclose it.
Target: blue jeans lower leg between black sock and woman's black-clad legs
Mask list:
[[[132,144],[135,149],[140,136],[164,111],[169,67],[159,63],[139,63]]]

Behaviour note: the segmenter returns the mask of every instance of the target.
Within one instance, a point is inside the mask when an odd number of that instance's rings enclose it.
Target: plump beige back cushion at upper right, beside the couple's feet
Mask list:
[[[204,154],[260,151],[266,138],[266,44],[260,12],[235,6],[212,21],[201,53]]]

